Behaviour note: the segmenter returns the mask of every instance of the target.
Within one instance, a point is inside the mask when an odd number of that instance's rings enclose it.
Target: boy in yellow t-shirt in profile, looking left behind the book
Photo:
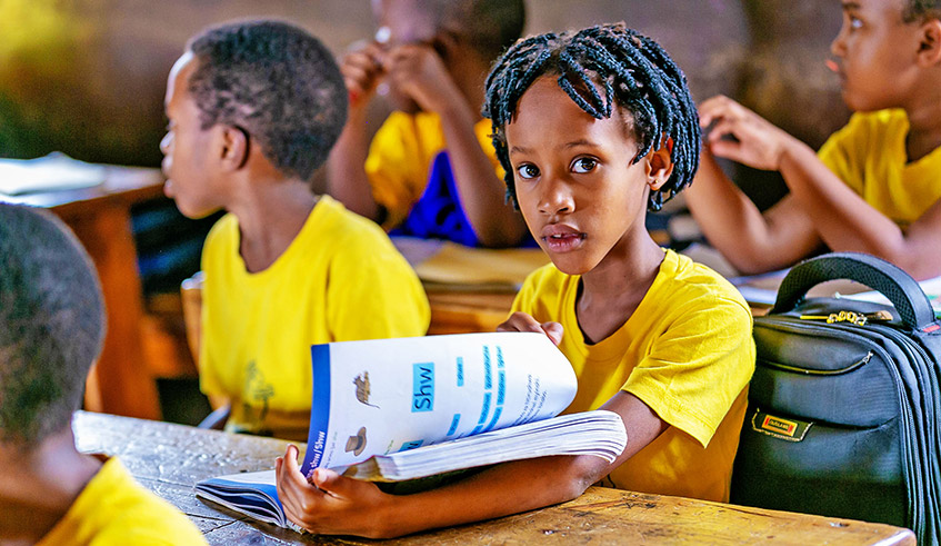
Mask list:
[[[170,71],[166,192],[228,211],[202,255],[200,385],[231,431],[307,438],[313,344],[421,336],[424,290],[388,236],[309,180],[347,112],[332,54],[277,21],[193,38]]]

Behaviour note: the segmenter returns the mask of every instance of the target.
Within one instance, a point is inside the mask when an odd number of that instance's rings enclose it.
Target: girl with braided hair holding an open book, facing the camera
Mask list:
[[[390,537],[561,503],[595,483],[728,500],[754,366],[751,314],[714,271],[661,249],[644,227],[691,180],[700,132],[682,71],[623,24],[517,42],[487,80],[484,116],[508,192],[552,259],[499,329],[544,331],[579,377],[567,411],[618,413],[613,463],[504,463],[393,497],[278,460],[289,518],[316,533]]]

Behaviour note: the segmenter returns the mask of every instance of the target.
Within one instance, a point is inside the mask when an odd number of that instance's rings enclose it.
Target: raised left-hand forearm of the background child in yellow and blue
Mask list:
[[[381,220],[381,207],[372,197],[372,187],[366,175],[369,152],[367,107],[376,93],[382,73],[379,59],[382,51],[376,43],[347,54],[340,72],[350,97],[347,125],[327,160],[327,192],[348,209],[371,220]]]

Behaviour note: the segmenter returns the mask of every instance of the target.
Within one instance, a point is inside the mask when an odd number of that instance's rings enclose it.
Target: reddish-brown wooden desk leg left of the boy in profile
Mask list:
[[[160,419],[157,384],[143,358],[143,302],[130,211],[116,202],[64,220],[98,268],[107,307],[108,332],[88,381],[87,409]]]

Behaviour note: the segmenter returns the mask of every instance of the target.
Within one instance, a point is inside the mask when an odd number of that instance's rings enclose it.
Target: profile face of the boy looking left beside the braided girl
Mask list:
[[[214,131],[202,129],[199,107],[187,89],[196,63],[192,53],[187,52],[170,70],[164,99],[170,122],[160,141],[167,177],[163,192],[176,200],[177,208],[188,218],[202,218],[222,207],[209,169]]]

